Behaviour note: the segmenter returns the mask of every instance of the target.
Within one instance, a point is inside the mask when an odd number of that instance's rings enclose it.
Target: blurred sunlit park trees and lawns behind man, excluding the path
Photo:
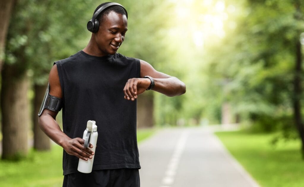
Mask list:
[[[140,95],[138,138],[233,125],[216,135],[260,185],[304,186],[303,0],[115,2],[128,11],[118,52],[187,87],[177,97]],[[101,3],[0,1],[0,186],[62,185],[62,148],[37,113],[53,62],[87,45],[86,23]]]

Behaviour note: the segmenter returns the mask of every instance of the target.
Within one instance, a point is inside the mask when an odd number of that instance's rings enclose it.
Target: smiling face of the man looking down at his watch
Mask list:
[[[103,56],[116,53],[125,39],[127,27],[126,15],[112,11],[105,16],[104,22],[100,24],[99,30],[95,34],[95,41]]]

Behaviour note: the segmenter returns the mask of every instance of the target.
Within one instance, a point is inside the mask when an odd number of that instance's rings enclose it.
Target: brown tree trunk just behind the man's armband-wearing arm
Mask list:
[[[50,150],[50,138],[40,129],[38,123],[38,113],[43,100],[47,85],[35,85],[35,98],[34,98],[34,149],[39,151]]]

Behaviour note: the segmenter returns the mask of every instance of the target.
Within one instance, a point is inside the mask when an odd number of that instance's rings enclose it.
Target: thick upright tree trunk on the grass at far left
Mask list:
[[[23,3],[16,5],[14,12],[23,8]],[[26,25],[21,14],[12,15],[13,20],[19,20],[20,24],[11,22],[6,44],[5,64],[2,69],[1,85],[1,113],[2,113],[2,145],[3,159],[18,159],[28,151],[28,127],[29,127],[29,101],[27,92],[29,79],[26,75],[28,64],[24,55],[24,46],[27,43]],[[18,32],[19,31],[19,32]]]

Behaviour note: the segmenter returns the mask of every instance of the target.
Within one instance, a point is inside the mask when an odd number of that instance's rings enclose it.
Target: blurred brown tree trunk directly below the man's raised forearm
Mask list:
[[[137,99],[137,127],[147,128],[154,125],[153,94],[151,91],[138,95]]]

